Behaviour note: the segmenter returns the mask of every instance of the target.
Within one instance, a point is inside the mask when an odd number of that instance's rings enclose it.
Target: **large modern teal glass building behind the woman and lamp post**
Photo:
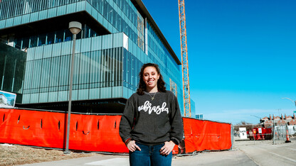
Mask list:
[[[75,47],[73,111],[122,113],[140,67],[154,62],[184,114],[181,62],[141,0],[0,0],[1,40],[27,52],[19,107],[67,110],[70,21],[83,24]]]

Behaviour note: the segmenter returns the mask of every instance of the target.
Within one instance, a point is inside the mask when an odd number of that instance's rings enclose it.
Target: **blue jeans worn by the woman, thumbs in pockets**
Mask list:
[[[169,166],[171,165],[171,157],[173,153],[169,155],[161,155],[159,150],[164,146],[160,145],[143,145],[141,143],[136,144],[141,148],[141,151],[136,150],[134,152],[129,151],[129,165],[131,166]]]

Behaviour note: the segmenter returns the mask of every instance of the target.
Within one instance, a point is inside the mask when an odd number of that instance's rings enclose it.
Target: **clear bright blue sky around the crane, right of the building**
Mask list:
[[[181,60],[177,0],[142,0]],[[296,1],[186,0],[191,99],[213,121],[296,110]],[[253,116],[251,116],[253,115]]]

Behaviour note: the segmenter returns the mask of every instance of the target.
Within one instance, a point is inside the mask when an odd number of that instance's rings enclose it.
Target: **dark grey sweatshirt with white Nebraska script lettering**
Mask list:
[[[154,94],[129,97],[120,121],[122,141],[132,139],[145,145],[181,142],[184,130],[176,96],[170,91]]]

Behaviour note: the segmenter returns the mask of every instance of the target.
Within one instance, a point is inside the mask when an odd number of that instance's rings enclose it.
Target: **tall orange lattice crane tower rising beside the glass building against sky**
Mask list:
[[[182,76],[183,76],[184,116],[191,117],[189,68],[188,68],[187,36],[186,36],[186,18],[185,18],[185,0],[178,0],[178,2],[179,2],[181,60],[182,60],[182,73],[183,73]]]

